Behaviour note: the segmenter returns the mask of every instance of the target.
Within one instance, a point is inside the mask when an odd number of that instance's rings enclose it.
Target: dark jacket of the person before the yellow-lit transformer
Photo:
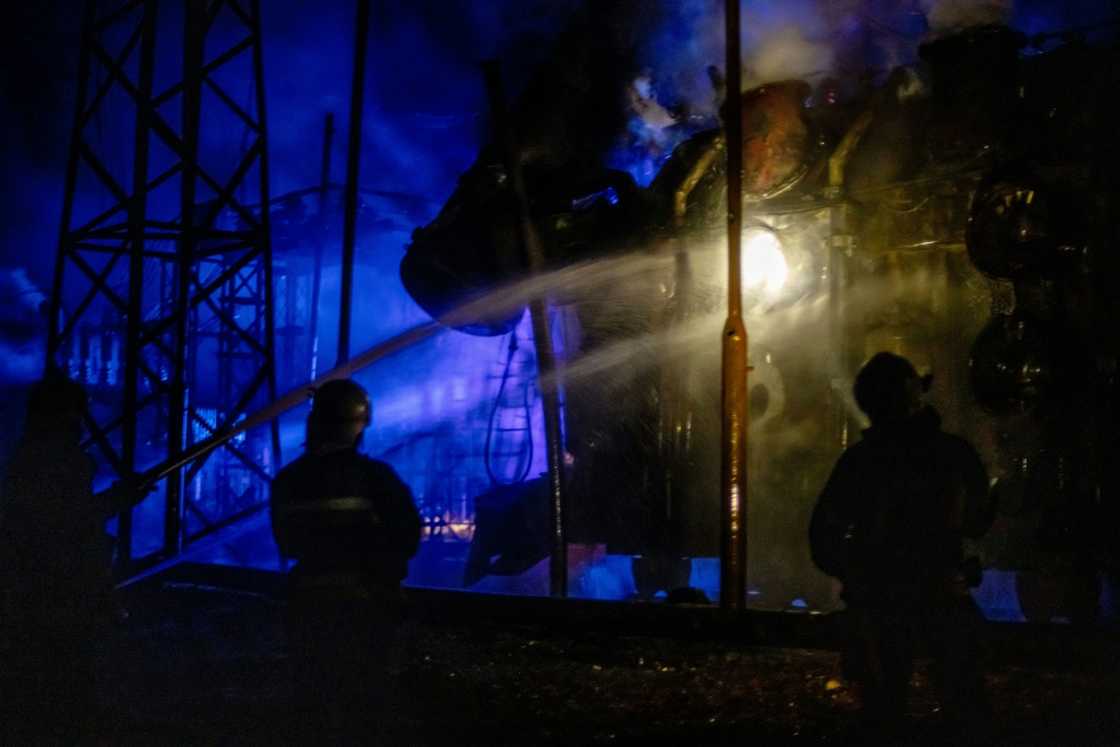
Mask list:
[[[852,604],[923,606],[958,580],[963,538],[995,519],[976,450],[932,409],[872,426],[841,455],[810,524],[813,562]]]

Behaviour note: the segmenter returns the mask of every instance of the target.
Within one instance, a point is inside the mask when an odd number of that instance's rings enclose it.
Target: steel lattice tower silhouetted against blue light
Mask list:
[[[116,475],[276,398],[269,213],[249,207],[269,204],[259,0],[159,4],[87,2],[50,302],[48,361],[90,387],[90,445]],[[244,133],[233,151],[231,130]],[[280,459],[276,422],[265,430],[167,477],[149,498],[161,532],[122,514],[123,570],[259,508]]]

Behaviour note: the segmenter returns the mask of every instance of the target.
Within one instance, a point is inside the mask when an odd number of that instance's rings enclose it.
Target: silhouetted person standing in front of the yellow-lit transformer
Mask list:
[[[843,582],[846,674],[860,687],[866,725],[885,729],[904,719],[923,645],[949,725],[979,725],[988,712],[983,618],[969,594],[980,569],[962,540],[988,530],[995,505],[976,449],[923,403],[931,379],[890,353],[860,370],[856,402],[871,426],[841,455],[810,524],[813,561]]]

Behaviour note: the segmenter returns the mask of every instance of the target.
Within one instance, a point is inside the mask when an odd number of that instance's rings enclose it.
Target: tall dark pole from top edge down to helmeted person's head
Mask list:
[[[354,296],[354,242],[357,231],[357,180],[362,161],[362,102],[365,92],[365,50],[370,40],[370,0],[357,0],[354,28],[354,76],[351,88],[349,147],[346,153],[346,207],[343,224],[342,298],[338,310],[338,360],[349,360],[351,304]]]

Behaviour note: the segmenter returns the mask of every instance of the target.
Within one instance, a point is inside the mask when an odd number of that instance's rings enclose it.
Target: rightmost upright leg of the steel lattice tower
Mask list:
[[[261,34],[261,3],[260,0],[252,0],[250,6],[252,12],[252,28],[253,28],[253,76],[255,77],[256,84],[253,86],[256,94],[256,123],[259,127],[258,142],[261,143],[261,152],[256,156],[258,171],[260,171],[260,199],[261,199],[261,226],[260,226],[260,246],[261,246],[261,261],[264,263],[264,349],[267,351],[268,361],[265,365],[269,367],[268,373],[268,389],[269,389],[269,401],[276,401],[277,399],[277,358],[276,358],[276,319],[273,318],[273,309],[276,309],[276,299],[273,298],[272,290],[272,216],[269,214],[269,118],[265,110],[265,95],[264,95],[264,38]],[[273,418],[271,423],[271,441],[272,441],[272,469],[273,474],[279,469],[280,464],[283,461],[282,455],[280,454],[280,422]]]

